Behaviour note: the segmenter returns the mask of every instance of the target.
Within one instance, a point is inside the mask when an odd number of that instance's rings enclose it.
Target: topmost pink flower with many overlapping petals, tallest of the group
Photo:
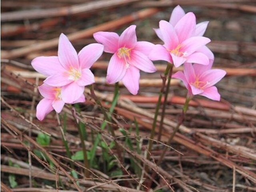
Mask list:
[[[180,6],[172,12],[170,22],[161,20],[155,29],[164,45],[156,45],[149,55],[151,60],[165,60],[175,67],[184,62],[208,65],[214,60],[212,52],[205,46],[209,38],[202,37],[208,22],[196,25],[194,13],[184,13]]]

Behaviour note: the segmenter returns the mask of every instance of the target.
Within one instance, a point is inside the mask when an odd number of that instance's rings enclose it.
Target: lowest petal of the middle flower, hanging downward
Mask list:
[[[134,66],[130,66],[126,70],[126,74],[122,79],[124,86],[128,89],[128,91],[136,95],[139,90],[139,80],[140,80],[140,70]]]

